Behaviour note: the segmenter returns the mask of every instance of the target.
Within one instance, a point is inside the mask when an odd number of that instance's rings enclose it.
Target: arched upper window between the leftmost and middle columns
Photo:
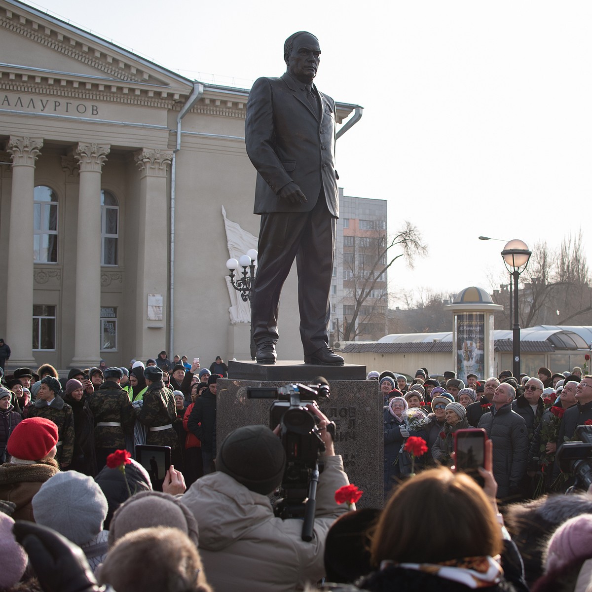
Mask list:
[[[57,195],[45,185],[34,191],[33,252],[36,263],[57,263]]]

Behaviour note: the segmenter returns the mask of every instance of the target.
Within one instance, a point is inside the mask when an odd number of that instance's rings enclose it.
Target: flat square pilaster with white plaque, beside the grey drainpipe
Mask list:
[[[143,148],[134,154],[140,169],[140,220],[136,279],[136,354],[153,358],[166,347],[168,230],[166,171],[170,150]],[[162,314],[147,313],[148,295],[162,297]],[[154,314],[156,313],[156,314]],[[160,318],[158,318],[160,316]]]

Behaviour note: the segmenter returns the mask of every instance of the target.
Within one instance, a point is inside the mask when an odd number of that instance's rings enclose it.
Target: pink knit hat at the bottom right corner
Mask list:
[[[546,550],[545,572],[592,555],[592,514],[574,516],[555,530]]]

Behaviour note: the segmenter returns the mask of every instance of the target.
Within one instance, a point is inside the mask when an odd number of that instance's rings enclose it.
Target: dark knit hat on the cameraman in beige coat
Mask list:
[[[267,426],[234,430],[222,442],[216,458],[218,471],[263,496],[282,482],[285,464],[282,441]]]

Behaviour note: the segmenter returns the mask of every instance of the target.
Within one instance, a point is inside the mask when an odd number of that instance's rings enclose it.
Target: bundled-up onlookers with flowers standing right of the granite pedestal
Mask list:
[[[510,370],[465,382],[446,372],[440,382],[420,368],[407,384],[403,375],[369,372],[384,397],[384,490],[390,491],[410,471],[409,437],[420,437],[428,452],[418,459],[420,470],[453,465],[456,430],[478,427],[493,440],[493,472],[504,501],[564,492],[574,475],[556,459],[568,440],[581,440],[578,426],[592,424],[592,378],[582,369],[551,372],[539,368],[535,377],[514,377]],[[422,413],[414,412],[417,408]]]

